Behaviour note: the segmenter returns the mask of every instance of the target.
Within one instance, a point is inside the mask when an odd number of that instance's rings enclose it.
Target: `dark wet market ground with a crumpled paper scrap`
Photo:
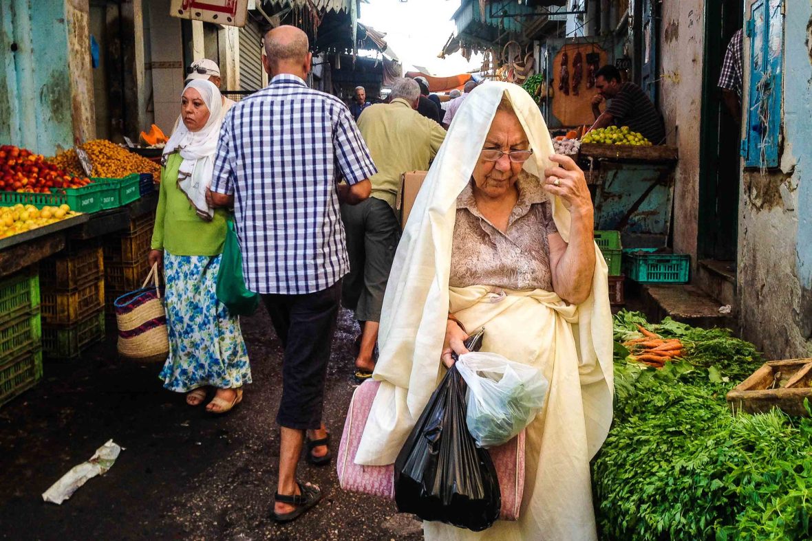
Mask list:
[[[330,359],[325,419],[336,448],[353,326],[343,312]],[[254,383],[221,416],[162,389],[160,367],[117,359],[114,328],[83,359],[46,362],[41,384],[0,409],[0,539],[422,539],[420,523],[390,501],[343,492],[335,462],[300,464],[300,479],[325,493],[316,509],[289,526],[270,520],[281,350],[264,308],[243,329]],[[108,474],[63,505],[42,501],[111,438],[126,450]]]

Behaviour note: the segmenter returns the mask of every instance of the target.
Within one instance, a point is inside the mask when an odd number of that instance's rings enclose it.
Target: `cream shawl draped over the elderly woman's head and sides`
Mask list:
[[[538,105],[523,88],[489,82],[470,92],[451,122],[395,253],[383,300],[380,356],[374,371],[374,378],[382,384],[356,454],[358,464],[394,462],[438,384],[449,310],[456,200],[471,178],[503,96],[511,102],[533,148],[524,169],[543,177],[546,167],[556,165],[548,159],[554,153],[550,133]],[[558,197],[551,197],[551,203],[559,234],[568,241],[569,213]],[[572,324],[590,456],[609,431],[613,393],[607,268],[597,246],[595,250],[592,292],[577,307],[577,323]]]

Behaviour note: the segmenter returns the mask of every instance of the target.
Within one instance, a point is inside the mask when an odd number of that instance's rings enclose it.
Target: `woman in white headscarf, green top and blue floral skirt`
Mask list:
[[[206,410],[225,413],[240,403],[251,369],[240,321],[216,294],[227,213],[205,200],[220,134],[220,91],[192,80],[181,97],[183,123],[163,150],[161,190],[149,264],[163,262],[169,358],[164,387],[188,393],[198,406],[217,389]]]

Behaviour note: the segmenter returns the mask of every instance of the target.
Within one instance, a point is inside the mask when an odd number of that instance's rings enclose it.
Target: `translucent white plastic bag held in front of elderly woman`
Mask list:
[[[529,425],[550,384],[537,368],[495,353],[466,353],[456,363],[468,384],[469,432],[480,447],[495,447]]]

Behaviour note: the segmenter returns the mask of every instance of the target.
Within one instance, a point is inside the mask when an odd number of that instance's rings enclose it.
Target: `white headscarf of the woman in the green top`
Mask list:
[[[195,207],[197,215],[210,221],[214,217],[214,211],[205,202],[205,191],[211,186],[214,175],[214,153],[217,152],[222,124],[222,97],[217,86],[209,80],[192,79],[184,87],[184,92],[187,88],[195,88],[200,92],[203,102],[209,108],[209,120],[199,131],[189,131],[184,122],[180,122],[175,133],[166,142],[163,155],[166,157],[179,149],[184,161],[178,170],[178,186]]]

